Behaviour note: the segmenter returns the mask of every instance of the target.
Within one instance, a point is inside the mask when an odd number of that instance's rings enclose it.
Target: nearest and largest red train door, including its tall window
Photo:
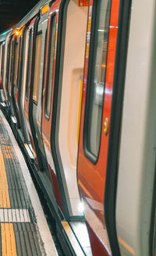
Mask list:
[[[111,254],[104,204],[118,17],[119,0],[90,1],[77,172],[94,255]]]

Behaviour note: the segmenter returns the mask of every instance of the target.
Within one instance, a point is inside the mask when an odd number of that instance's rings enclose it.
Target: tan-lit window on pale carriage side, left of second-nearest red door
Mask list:
[[[36,37],[36,54],[35,54],[35,64],[34,64],[34,89],[33,89],[33,100],[38,101],[38,91],[40,83],[40,68],[41,68],[41,43],[42,34],[37,34]]]

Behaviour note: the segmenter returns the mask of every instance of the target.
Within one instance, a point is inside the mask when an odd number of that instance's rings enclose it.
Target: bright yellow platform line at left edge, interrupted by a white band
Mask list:
[[[0,208],[11,208],[5,162],[0,148]],[[1,223],[2,256],[16,256],[16,239],[12,223]]]

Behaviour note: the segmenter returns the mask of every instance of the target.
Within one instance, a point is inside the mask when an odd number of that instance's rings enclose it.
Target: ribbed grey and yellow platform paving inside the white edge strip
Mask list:
[[[0,116],[0,255],[45,255],[34,209],[8,131]]]

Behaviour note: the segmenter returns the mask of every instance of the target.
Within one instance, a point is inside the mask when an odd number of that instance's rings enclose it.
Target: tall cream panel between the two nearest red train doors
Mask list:
[[[62,79],[60,79],[60,91],[58,91],[58,97],[60,97],[57,105],[58,123],[56,124],[58,164],[60,172],[64,174],[64,183],[66,183],[69,194],[68,207],[71,219],[73,216],[83,215],[77,186],[76,161],[87,10],[88,6],[80,6],[79,1],[69,1],[66,14],[65,51],[62,55]]]

